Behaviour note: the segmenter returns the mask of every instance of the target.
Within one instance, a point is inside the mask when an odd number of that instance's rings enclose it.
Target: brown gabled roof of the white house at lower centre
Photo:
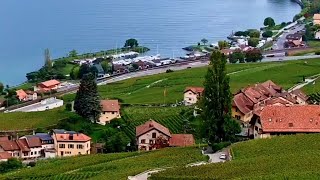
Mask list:
[[[146,123],[144,123],[140,126],[137,126],[136,127],[136,137],[141,136],[141,135],[151,131],[152,129],[156,129],[156,130],[162,132],[163,134],[171,137],[169,129],[162,126],[161,124],[155,122],[154,120],[149,120]]]

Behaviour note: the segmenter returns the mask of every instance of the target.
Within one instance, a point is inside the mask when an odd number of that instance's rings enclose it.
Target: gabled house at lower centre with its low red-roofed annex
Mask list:
[[[138,149],[145,151],[167,146],[192,146],[195,142],[192,134],[171,134],[168,128],[154,120],[136,127],[136,140]]]

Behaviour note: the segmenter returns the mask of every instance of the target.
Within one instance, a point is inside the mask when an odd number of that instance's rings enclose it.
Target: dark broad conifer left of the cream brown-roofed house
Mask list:
[[[83,118],[96,122],[101,113],[97,83],[93,74],[85,74],[80,81],[74,110]]]

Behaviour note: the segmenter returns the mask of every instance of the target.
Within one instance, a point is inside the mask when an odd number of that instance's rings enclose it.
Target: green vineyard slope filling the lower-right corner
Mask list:
[[[251,140],[232,145],[230,162],[168,169],[151,179],[319,179],[319,147],[319,134]]]

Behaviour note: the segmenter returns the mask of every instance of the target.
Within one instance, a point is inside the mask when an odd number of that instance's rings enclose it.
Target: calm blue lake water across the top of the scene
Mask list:
[[[158,46],[162,56],[180,56],[202,38],[217,42],[232,30],[261,27],[268,16],[292,21],[299,11],[290,0],[1,0],[0,81],[25,81],[42,66],[45,48],[56,58],[136,38],[151,54]]]

